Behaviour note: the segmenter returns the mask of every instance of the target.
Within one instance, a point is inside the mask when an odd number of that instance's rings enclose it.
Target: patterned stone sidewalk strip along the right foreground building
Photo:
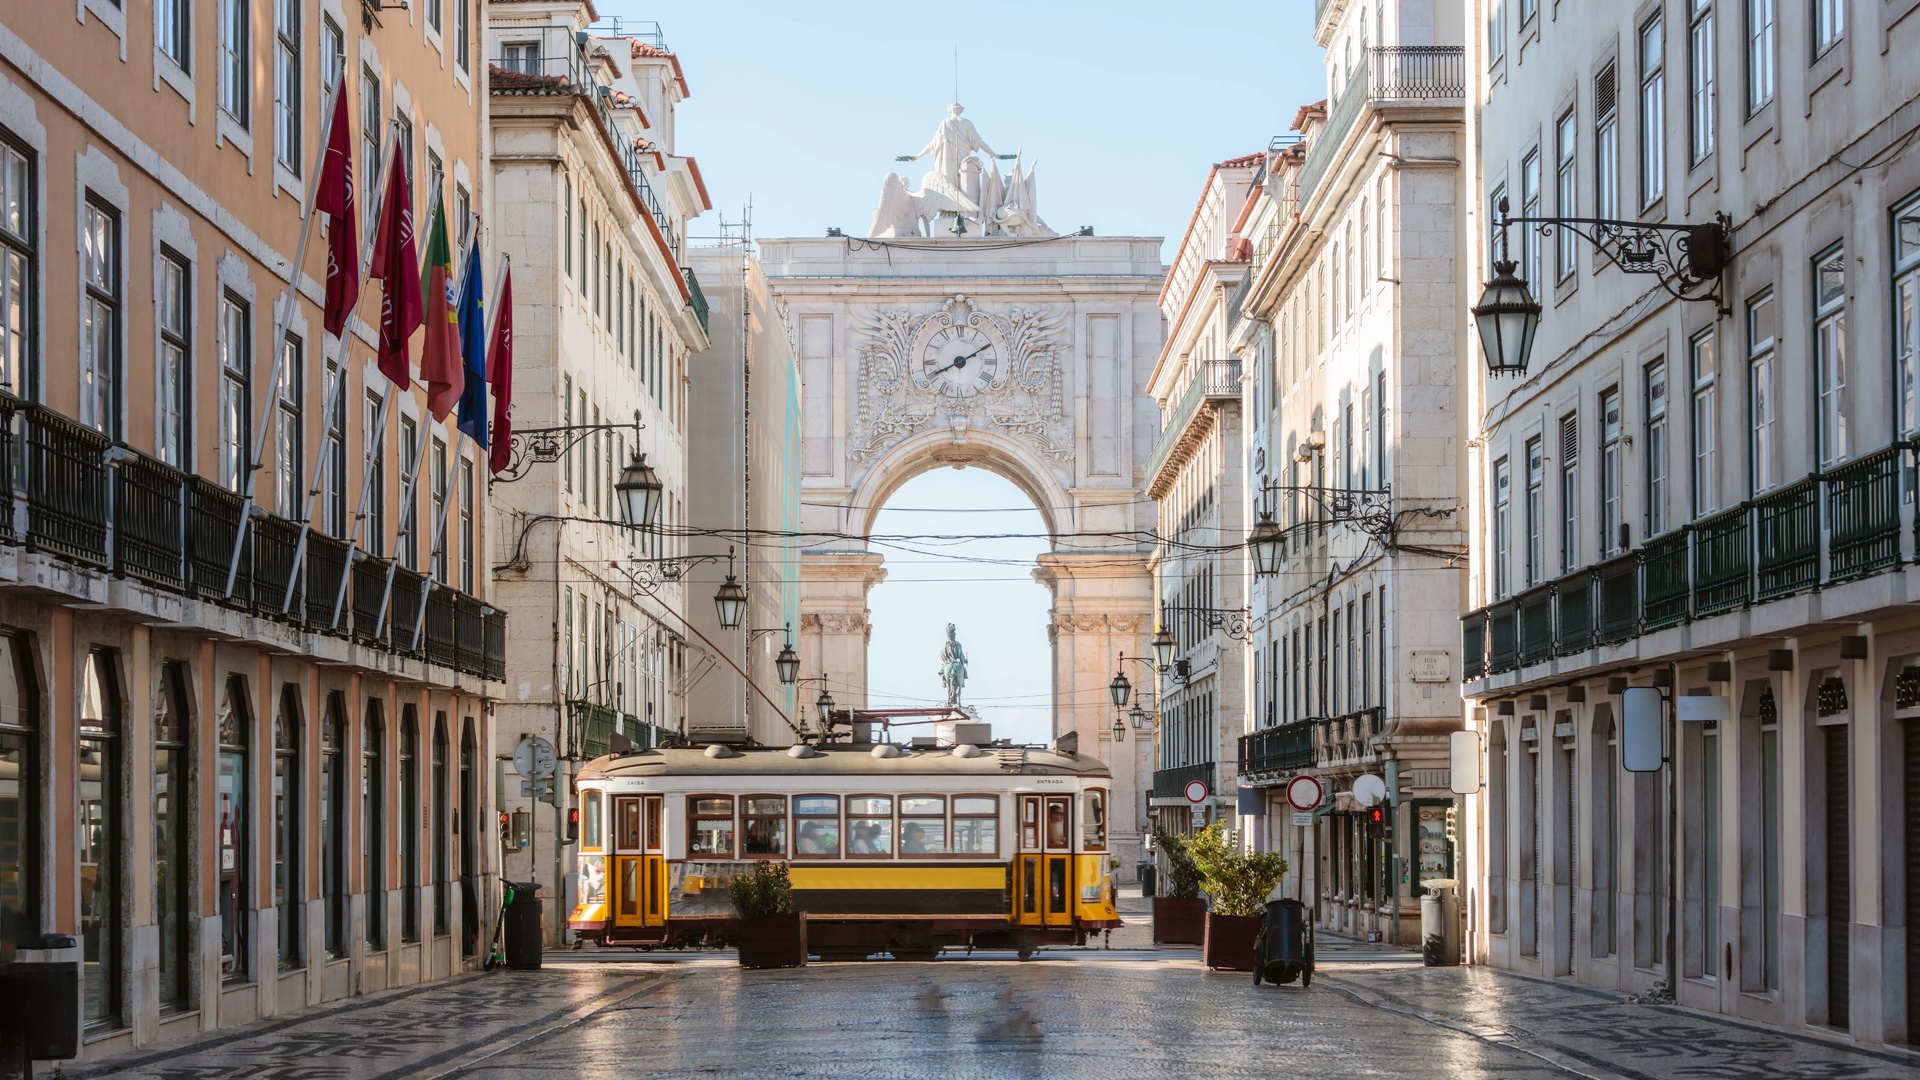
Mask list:
[[[1315,990],[1530,1053],[1594,1080],[1695,1076],[1920,1074],[1920,1053],[1878,1051],[1807,1034],[1784,1034],[1676,1005],[1628,1005],[1624,994],[1494,970],[1425,967],[1419,955],[1321,938]]]

